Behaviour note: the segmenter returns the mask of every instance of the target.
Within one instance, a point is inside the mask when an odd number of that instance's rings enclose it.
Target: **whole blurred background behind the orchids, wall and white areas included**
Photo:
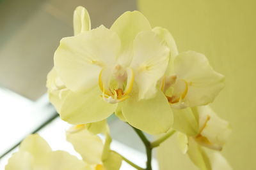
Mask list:
[[[180,52],[204,53],[226,76],[225,89],[212,104],[233,130],[223,155],[235,170],[256,169],[253,0],[0,0],[0,169],[9,151],[38,129],[52,148],[72,150],[68,143],[58,143],[65,140],[63,129],[68,125],[56,118],[45,95],[45,81],[60,39],[73,34],[72,15],[78,5],[89,11],[92,27],[109,27],[124,11],[140,10],[153,27],[169,29]],[[121,148],[133,148],[133,155],[143,162],[144,148],[134,132],[115,118],[109,122]],[[174,138],[157,152],[160,169],[196,169],[180,154]]]

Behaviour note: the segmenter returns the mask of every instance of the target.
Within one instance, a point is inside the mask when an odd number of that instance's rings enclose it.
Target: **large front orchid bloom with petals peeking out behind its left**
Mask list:
[[[90,30],[74,13],[75,36],[61,39],[48,75],[49,98],[70,124],[98,122],[120,111],[122,120],[150,134],[166,132],[172,110],[157,89],[170,58],[164,39],[139,11],[127,11],[110,29]]]

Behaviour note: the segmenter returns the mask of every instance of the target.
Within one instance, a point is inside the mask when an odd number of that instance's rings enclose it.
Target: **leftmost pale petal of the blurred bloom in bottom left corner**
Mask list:
[[[13,153],[5,170],[33,170],[34,157],[29,152]]]

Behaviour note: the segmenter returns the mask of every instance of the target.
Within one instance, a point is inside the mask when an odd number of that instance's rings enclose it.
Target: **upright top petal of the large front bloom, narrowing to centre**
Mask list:
[[[150,31],[151,26],[147,18],[140,11],[126,11],[116,19],[110,28],[115,31],[122,42],[122,57],[120,63],[125,65],[131,62],[132,42],[141,31]]]

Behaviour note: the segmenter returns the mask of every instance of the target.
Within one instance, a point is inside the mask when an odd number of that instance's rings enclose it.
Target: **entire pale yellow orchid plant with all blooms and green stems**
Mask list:
[[[202,53],[178,52],[168,30],[150,26],[139,11],[127,11],[110,27],[91,29],[88,11],[74,11],[74,36],[63,38],[47,76],[49,99],[83,160],[52,152],[40,136],[24,139],[10,169],[152,169],[152,149],[177,134],[180,150],[200,169],[231,169],[220,150],[230,134],[228,122],[212,111],[224,77]],[[145,168],[111,150],[106,118],[132,126],[145,144]],[[143,132],[161,134],[150,142]],[[104,134],[105,140],[99,138]],[[210,150],[205,150],[210,148]]]

